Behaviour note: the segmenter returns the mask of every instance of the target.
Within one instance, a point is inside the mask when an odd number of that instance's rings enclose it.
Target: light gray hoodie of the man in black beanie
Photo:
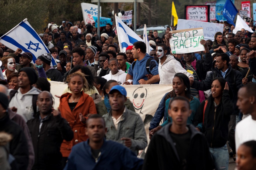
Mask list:
[[[41,91],[35,87],[32,87],[27,93],[22,94],[20,88],[18,92],[15,93],[12,100],[9,103],[9,108],[17,108],[17,114],[22,115],[22,117],[27,122],[29,119],[33,118],[34,110],[32,98],[34,94],[39,94]]]

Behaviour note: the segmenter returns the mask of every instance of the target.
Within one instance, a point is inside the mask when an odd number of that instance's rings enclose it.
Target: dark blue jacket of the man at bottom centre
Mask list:
[[[120,143],[104,140],[100,152],[98,161],[95,162],[89,139],[78,143],[72,147],[64,170],[142,169],[143,159],[137,158],[129,148]]]

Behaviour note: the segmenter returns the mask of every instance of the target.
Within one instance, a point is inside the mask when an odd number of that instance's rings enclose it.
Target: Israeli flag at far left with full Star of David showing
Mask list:
[[[34,28],[28,23],[27,18],[3,35],[0,42],[14,51],[21,48],[22,53],[30,52],[33,55],[31,63],[35,63],[40,55],[50,53]],[[57,63],[52,57],[51,66],[55,65]]]

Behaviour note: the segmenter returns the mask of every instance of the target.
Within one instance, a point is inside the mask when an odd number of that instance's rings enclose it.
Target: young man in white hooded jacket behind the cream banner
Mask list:
[[[105,65],[105,63],[104,63]],[[117,81],[120,85],[125,82],[125,78],[127,73],[125,73],[123,70],[119,70],[118,68],[118,61],[115,58],[112,58],[108,62],[108,67],[110,69],[109,74],[103,76],[104,79],[107,81],[109,80],[115,80]]]

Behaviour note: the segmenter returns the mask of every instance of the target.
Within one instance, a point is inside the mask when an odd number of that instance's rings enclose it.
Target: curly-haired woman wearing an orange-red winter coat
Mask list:
[[[86,120],[91,114],[97,114],[93,99],[83,90],[89,88],[89,83],[85,77],[86,75],[80,71],[69,74],[67,81],[71,93],[62,94],[60,97],[59,111],[61,117],[69,122],[74,132],[73,140],[69,142],[63,140],[60,146],[63,165],[67,161],[72,146],[88,139],[84,131]]]

